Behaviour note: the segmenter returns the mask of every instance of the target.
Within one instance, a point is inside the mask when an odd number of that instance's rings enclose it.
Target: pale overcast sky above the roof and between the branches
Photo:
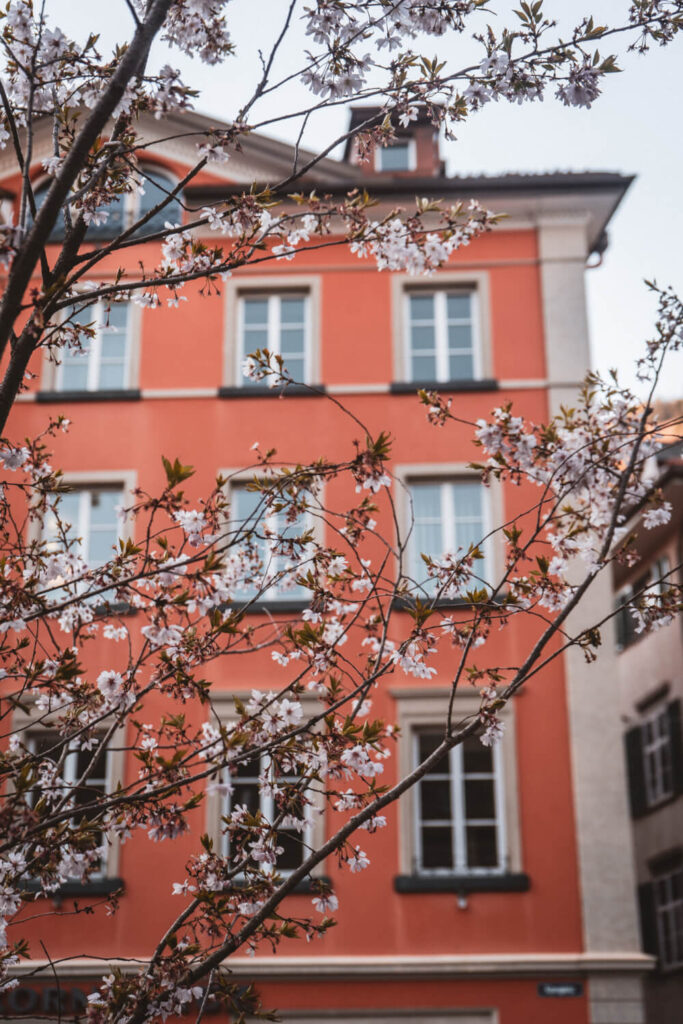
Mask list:
[[[492,0],[497,10],[509,6]],[[564,24],[569,16],[579,20],[592,13],[597,24],[614,25],[628,9],[626,0],[546,0],[545,6]],[[47,0],[47,9],[76,38],[101,33],[103,49],[130,29],[124,0]],[[222,120],[229,120],[249,95],[258,74],[258,48],[279,31],[285,0],[232,0],[226,11],[238,56],[208,69],[158,45],[153,61],[181,69],[184,81],[201,90],[196,109]],[[439,52],[438,44],[430,39],[426,51]],[[283,53],[283,73],[296,67],[304,45],[295,31]],[[623,47],[605,41],[601,51],[611,52],[615,45]],[[683,293],[683,38],[644,57],[627,55],[621,65],[624,74],[608,77],[592,110],[564,108],[550,94],[524,106],[489,103],[461,127],[457,142],[444,144],[443,155],[451,174],[608,170],[637,176],[610,224],[602,266],[587,273],[594,364],[602,371],[615,367],[625,383],[637,386],[633,364],[653,323],[652,297],[643,279]],[[282,89],[258,108],[258,120],[287,114],[301,96],[295,87]],[[327,112],[312,125],[307,143],[327,141],[344,130],[346,121],[341,109]],[[268,131],[293,140],[287,122]],[[683,353],[672,358],[659,393],[683,397]]]

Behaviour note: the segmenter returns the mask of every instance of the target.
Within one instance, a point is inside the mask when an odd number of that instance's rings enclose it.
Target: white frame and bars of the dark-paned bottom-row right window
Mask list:
[[[417,767],[419,762],[419,743],[420,736],[428,732],[437,732],[438,725],[433,728],[430,726],[422,726],[413,728],[412,730],[412,740],[413,740],[413,757],[414,764],[413,767]],[[441,726],[442,731],[442,726]],[[451,819],[449,821],[430,821],[430,825],[440,824],[442,826],[449,826],[452,831],[452,849],[454,854],[454,864],[453,867],[425,867],[421,862],[422,853],[422,843],[421,843],[421,826],[422,826],[422,808],[420,804],[420,783],[416,786],[415,794],[415,814],[413,818],[413,825],[415,829],[415,835],[413,837],[413,849],[415,850],[415,869],[416,873],[420,876],[428,877],[449,877],[451,874],[471,874],[471,876],[490,876],[490,874],[504,874],[506,871],[506,855],[507,850],[507,836],[506,836],[506,815],[505,815],[505,786],[503,782],[503,759],[501,757],[500,744],[494,745],[492,749],[492,759],[493,759],[493,776],[494,776],[494,800],[496,803],[496,817],[492,819],[468,819],[465,817],[465,779],[475,778],[477,773],[468,773],[465,775],[464,771],[464,752],[463,746],[454,746],[452,751],[449,752],[449,781],[451,784]],[[425,775],[424,778],[431,778],[431,775]],[[486,773],[486,778],[489,777],[489,773]],[[468,822],[476,821],[477,824],[494,825],[496,828],[496,849],[498,863],[495,866],[477,867],[470,866],[467,863],[467,824]]]

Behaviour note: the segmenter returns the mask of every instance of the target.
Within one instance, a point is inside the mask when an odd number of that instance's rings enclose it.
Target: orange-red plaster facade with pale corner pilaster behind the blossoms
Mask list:
[[[433,160],[432,143],[433,138],[429,145],[421,143],[420,160]],[[162,143],[156,152],[174,173],[182,172],[187,151],[180,142],[172,148]],[[201,205],[203,195],[206,201],[240,182],[269,179],[290,156],[280,143],[248,138],[221,177],[198,180],[194,201]],[[48,386],[43,373],[49,368],[37,357],[35,390],[17,403],[11,433],[38,433],[47,413],[63,413],[73,427],[68,440],[55,440],[53,464],[67,473],[90,474],[92,480],[134,472],[138,485],[152,493],[162,484],[161,452],[197,467],[188,489],[198,495],[222,468],[249,462],[255,440],[266,445],[276,439],[284,460],[344,455],[356,428],[336,417],[324,397],[281,400],[272,394],[236,393],[233,387],[236,302],[254,287],[261,292],[298,288],[315,297],[313,383],[343,394],[372,430],[391,432],[396,467],[418,476],[447,476],[450,467],[476,459],[478,450],[464,430],[435,431],[415,394],[390,391],[390,386],[407,380],[396,326],[405,288],[433,292],[453,282],[472,285],[484,303],[486,342],[485,381],[477,388],[443,383],[459,416],[474,421],[510,400],[518,413],[546,421],[575,394],[590,365],[584,266],[628,179],[539,175],[459,183],[440,176],[439,167],[417,167],[421,188],[427,187],[424,175],[431,174],[433,188],[449,198],[460,198],[466,189],[466,197],[510,213],[505,226],[456,253],[443,271],[409,286],[335,248],[301,253],[292,263],[274,262],[257,273],[246,267],[222,296],[202,298],[200,285],[189,284],[184,292],[189,301],[179,309],[142,311],[135,394],[122,395],[125,401],[97,400],[96,394],[53,395],[46,401],[40,392]],[[5,173],[3,183],[15,187],[10,170]],[[330,160],[319,169],[321,183],[330,187],[348,187],[364,174],[361,168]],[[366,183],[381,191],[380,213],[405,197],[412,202],[411,187],[417,188],[410,175],[377,175]],[[135,267],[134,248],[122,258]],[[219,393],[221,386],[225,393]],[[330,484],[331,501],[335,487]],[[502,488],[505,517],[519,511],[522,501],[519,488]],[[596,587],[588,617],[600,617],[607,599]],[[493,639],[490,653],[483,656],[492,664],[518,664],[531,637],[522,623]],[[96,644],[86,659],[91,671],[109,668],[105,651]],[[445,655],[437,668],[433,684],[445,693]],[[231,671],[215,669],[217,691],[227,695],[272,685],[268,652],[245,659],[239,678]],[[375,715],[399,717],[410,705],[402,685],[396,677],[390,692],[378,693]],[[162,714],[163,699],[148,711]],[[185,712],[198,723],[203,714],[199,707]],[[511,819],[509,864],[516,888],[486,891],[483,885],[483,891],[463,895],[445,879],[442,891],[419,886],[411,891],[409,802],[372,837],[371,868],[351,876],[334,859],[326,865],[340,912],[338,927],[325,942],[288,946],[276,957],[259,952],[253,962],[233,964],[245,977],[257,978],[266,1005],[284,1009],[289,1020],[311,1024],[386,1024],[403,1018],[420,1024],[641,1024],[640,979],[650,959],[640,952],[637,936],[613,653],[607,651],[597,668],[573,655],[556,659],[515,700],[510,722],[515,763],[505,813]],[[398,763],[400,758],[387,762],[386,783],[396,777]],[[135,765],[126,770],[133,773]],[[54,958],[84,948],[93,956],[148,956],[177,910],[172,883],[183,877],[182,864],[195,852],[200,833],[215,829],[215,822],[206,820],[207,807],[210,802],[196,812],[194,834],[172,848],[161,850],[143,836],[121,848],[118,871],[125,892],[114,918],[96,912],[79,919],[77,938],[67,915],[28,926],[35,962],[42,955],[40,939]],[[328,827],[333,824],[330,815]],[[407,876],[408,891],[405,886],[400,890],[397,880]],[[286,909],[304,914],[309,906],[310,896],[293,895]],[[92,964],[79,962],[69,970],[72,978],[94,976]],[[540,986],[551,982],[562,983],[565,994],[544,994]]]

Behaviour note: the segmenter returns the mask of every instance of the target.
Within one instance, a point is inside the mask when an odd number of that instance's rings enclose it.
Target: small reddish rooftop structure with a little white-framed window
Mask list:
[[[358,125],[368,129],[378,128],[386,116],[379,106],[352,106],[349,130]],[[443,174],[443,163],[438,152],[438,128],[431,123],[427,109],[419,108],[417,120],[403,128],[394,121],[395,141],[388,146],[373,146],[369,159],[360,162],[360,152],[356,138],[346,143],[344,159],[349,164],[362,168],[368,175],[382,178],[438,177]]]

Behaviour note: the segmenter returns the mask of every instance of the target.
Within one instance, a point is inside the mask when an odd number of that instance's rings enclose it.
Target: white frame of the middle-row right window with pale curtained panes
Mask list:
[[[488,489],[484,487],[483,483],[481,483],[478,477],[475,477],[472,474],[470,474],[469,476],[462,474],[458,474],[455,476],[442,476],[442,475],[408,476],[405,479],[405,485],[408,487],[408,496],[407,496],[408,509],[405,515],[405,522],[409,524],[409,527],[414,525],[413,517],[415,515],[415,511],[413,502],[413,488],[415,486],[420,486],[422,484],[437,484],[440,487],[441,540],[442,541],[445,540],[447,543],[441,552],[433,552],[432,557],[438,558],[445,554],[454,554],[454,555],[458,554],[457,546],[455,543],[458,517],[455,514],[453,487],[454,485],[457,486],[459,483],[478,483],[479,485],[479,493],[481,496],[481,542],[482,542],[479,545],[479,547],[483,553],[483,559],[477,559],[474,562],[473,571],[477,579],[472,581],[472,587],[474,588],[483,586],[483,584],[480,583],[480,580],[483,580],[487,585],[490,585],[490,581],[494,573],[494,563],[493,563],[492,545],[490,545],[492,538],[488,537],[488,534],[492,528],[490,527],[492,511],[489,508]],[[416,549],[415,530],[413,530],[413,532],[411,534],[408,547],[408,554],[409,554],[408,570],[411,577],[416,581],[416,586],[420,590],[427,593],[427,588],[425,587],[425,584],[423,583],[420,586],[417,582],[418,570],[420,570],[421,566],[424,566],[424,562],[420,557],[420,555],[423,554],[423,552],[417,551]],[[424,554],[430,554],[430,553],[424,552]],[[461,554],[463,555],[466,554],[466,551],[463,549]],[[426,568],[424,569],[424,572],[426,573]],[[466,589],[471,589],[471,588],[466,588]]]

